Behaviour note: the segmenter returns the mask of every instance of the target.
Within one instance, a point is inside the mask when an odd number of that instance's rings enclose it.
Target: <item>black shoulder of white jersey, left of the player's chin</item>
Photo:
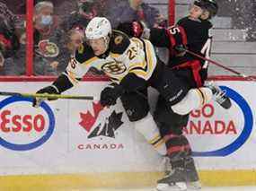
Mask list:
[[[75,50],[75,59],[81,64],[89,61],[93,57],[95,57],[93,49],[85,42]]]

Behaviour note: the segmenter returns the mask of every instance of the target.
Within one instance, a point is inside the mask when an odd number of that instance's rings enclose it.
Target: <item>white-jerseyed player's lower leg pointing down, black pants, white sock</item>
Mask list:
[[[134,123],[136,130],[153,145],[161,155],[166,154],[166,146],[159,133],[152,115],[149,112],[146,89],[138,92],[129,92],[121,96],[121,101],[128,115],[128,119]]]

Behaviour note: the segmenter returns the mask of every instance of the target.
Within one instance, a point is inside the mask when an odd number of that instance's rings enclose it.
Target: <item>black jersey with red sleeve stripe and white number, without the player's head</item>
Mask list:
[[[211,22],[191,20],[189,17],[184,17],[168,29],[151,29],[150,41],[156,47],[169,48],[169,65],[179,65],[199,58],[188,53],[185,56],[176,56],[173,50],[176,45],[182,44],[192,52],[201,56],[209,56],[212,39],[209,30],[211,28]],[[203,60],[201,62],[204,64]]]

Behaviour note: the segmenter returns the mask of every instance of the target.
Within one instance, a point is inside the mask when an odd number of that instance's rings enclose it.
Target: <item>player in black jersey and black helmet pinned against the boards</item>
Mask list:
[[[150,39],[155,47],[169,49],[168,66],[173,74],[189,89],[202,87],[207,79],[207,62],[186,53],[190,51],[200,56],[209,56],[212,37],[209,30],[212,23],[209,21],[217,13],[218,6],[215,0],[196,0],[190,7],[190,14],[182,18],[176,25],[168,29],[146,29],[141,22],[120,23],[118,30],[128,33],[129,36]],[[224,93],[212,86],[215,100],[225,109],[231,107],[230,100]],[[154,120],[165,137],[168,157],[171,161],[172,172],[158,181],[158,190],[168,187],[187,187],[184,182],[194,188],[200,187],[199,176],[191,157],[190,143],[182,135],[182,128],[187,126],[189,114],[180,115],[168,107],[168,101],[159,96],[154,111]],[[178,183],[178,184],[177,184]],[[192,183],[192,184],[191,184]]]

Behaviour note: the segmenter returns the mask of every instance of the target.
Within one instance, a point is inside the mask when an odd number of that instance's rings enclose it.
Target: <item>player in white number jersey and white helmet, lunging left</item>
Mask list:
[[[85,36],[87,42],[75,51],[66,72],[38,93],[62,93],[79,82],[90,67],[95,67],[114,82],[102,90],[102,106],[115,105],[120,98],[136,130],[159,153],[166,154],[163,139],[149,113],[147,87],[159,91],[166,106],[179,115],[187,115],[209,102],[214,92],[208,87],[189,89],[155,56],[150,41],[129,39],[126,34],[111,30],[110,22],[104,17],[93,18],[86,27]],[[39,105],[40,100],[34,100],[34,106]]]

